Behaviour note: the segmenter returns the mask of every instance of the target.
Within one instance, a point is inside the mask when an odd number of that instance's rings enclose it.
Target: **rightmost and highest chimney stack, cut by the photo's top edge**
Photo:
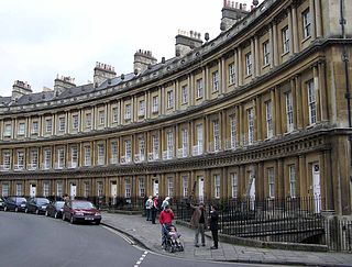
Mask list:
[[[222,32],[229,30],[238,21],[246,16],[250,11],[246,10],[246,3],[234,2],[231,0],[223,0],[223,8],[221,10],[222,19],[220,30]]]

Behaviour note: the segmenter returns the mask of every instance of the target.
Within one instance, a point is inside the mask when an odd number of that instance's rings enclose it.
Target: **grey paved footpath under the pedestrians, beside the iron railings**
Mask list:
[[[141,214],[121,214],[103,212],[101,223],[114,229],[139,243],[144,248],[154,253],[168,256],[213,262],[252,263],[267,265],[290,265],[290,266],[352,266],[351,253],[334,252],[301,252],[284,251],[241,246],[229,243],[219,243],[219,249],[210,249],[212,241],[207,232],[206,246],[195,247],[194,230],[177,224],[177,232],[182,234],[185,251],[169,253],[163,251],[161,238],[161,224],[152,224]],[[200,236],[199,236],[200,237]]]

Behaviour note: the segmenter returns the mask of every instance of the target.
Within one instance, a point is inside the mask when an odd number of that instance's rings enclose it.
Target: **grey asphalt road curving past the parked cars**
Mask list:
[[[210,267],[227,263],[161,256],[131,245],[105,226],[69,224],[43,215],[0,212],[2,267]],[[231,266],[261,266],[231,264]]]

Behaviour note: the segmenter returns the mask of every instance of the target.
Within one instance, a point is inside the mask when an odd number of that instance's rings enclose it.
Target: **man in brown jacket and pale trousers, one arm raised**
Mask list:
[[[205,230],[207,225],[206,225],[205,204],[200,202],[198,207],[191,204],[190,208],[194,210],[194,213],[191,214],[191,219],[190,219],[190,226],[195,229],[195,246],[199,247],[198,245],[199,234],[201,238],[201,245],[206,246]]]

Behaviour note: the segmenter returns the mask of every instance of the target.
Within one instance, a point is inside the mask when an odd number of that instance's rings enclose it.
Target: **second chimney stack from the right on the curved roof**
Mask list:
[[[200,47],[202,45],[201,34],[195,31],[186,32],[178,30],[178,34],[175,38],[175,54],[177,57],[185,56],[194,48]]]

